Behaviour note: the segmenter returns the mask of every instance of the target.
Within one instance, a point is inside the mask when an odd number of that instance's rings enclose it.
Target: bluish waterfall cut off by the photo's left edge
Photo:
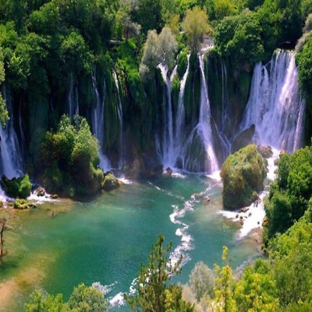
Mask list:
[[[21,145],[19,144],[14,128],[14,114],[12,111],[10,92],[8,92],[6,87],[3,87],[3,98],[6,101],[10,120],[7,121],[5,127],[0,125],[0,173],[12,179],[12,177],[21,175],[23,171],[23,158],[21,156]]]

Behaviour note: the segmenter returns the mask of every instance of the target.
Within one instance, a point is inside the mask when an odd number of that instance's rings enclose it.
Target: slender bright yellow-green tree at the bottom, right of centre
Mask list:
[[[232,269],[227,263],[227,248],[223,247],[223,262],[225,266],[220,268],[220,266],[215,266],[216,270],[216,312],[235,312],[236,303],[233,297],[233,277],[232,277]]]

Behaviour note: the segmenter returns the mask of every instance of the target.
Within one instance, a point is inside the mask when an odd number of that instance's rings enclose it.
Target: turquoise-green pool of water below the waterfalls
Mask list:
[[[253,243],[236,239],[238,225],[216,214],[222,206],[218,182],[198,176],[135,182],[93,202],[45,204],[17,214],[17,226],[8,232],[11,252],[0,265],[0,285],[12,278],[17,284],[10,309],[21,311],[25,297],[37,287],[64,293],[65,298],[80,281],[116,283],[107,297],[128,292],[159,234],[173,242],[173,248],[181,244],[181,236],[175,234],[181,225],[170,218],[173,206],[182,209],[193,193],[205,190],[211,204],[192,201],[180,219],[189,227],[184,234],[191,236],[193,249],[184,251],[189,261],[175,281],[187,281],[196,261],[220,263],[223,245],[229,248],[234,268],[255,257]]]

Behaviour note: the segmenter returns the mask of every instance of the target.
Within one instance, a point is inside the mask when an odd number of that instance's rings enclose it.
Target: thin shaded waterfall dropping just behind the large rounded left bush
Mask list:
[[[92,107],[92,132],[98,139],[100,144],[99,157],[100,157],[100,167],[103,171],[108,171],[111,168],[110,160],[104,154],[104,122],[105,122],[105,92],[106,85],[105,80],[103,82],[103,96],[100,97],[100,93],[98,92],[98,85],[96,83],[96,71],[92,73],[92,94],[96,103],[94,107]]]

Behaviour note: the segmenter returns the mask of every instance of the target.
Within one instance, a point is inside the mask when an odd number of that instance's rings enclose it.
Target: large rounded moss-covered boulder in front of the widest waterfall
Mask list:
[[[223,206],[238,209],[258,198],[266,177],[266,163],[255,145],[229,155],[222,166]]]

